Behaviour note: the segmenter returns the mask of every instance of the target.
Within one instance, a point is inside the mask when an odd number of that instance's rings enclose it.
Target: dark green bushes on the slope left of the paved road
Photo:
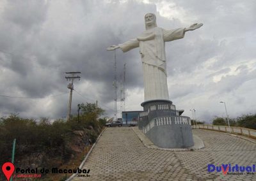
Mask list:
[[[43,156],[42,163],[40,163],[42,167],[58,166],[57,160],[68,161],[74,154],[70,148],[74,141],[74,131],[88,129],[88,139],[91,143],[95,142],[100,132],[100,123],[97,118],[103,110],[92,104],[84,105],[84,110],[86,112],[81,113],[79,122],[77,117],[72,117],[68,122],[59,119],[53,123],[47,118],[36,122],[33,119],[22,119],[14,114],[2,118],[0,120],[0,164],[11,161],[14,138],[17,140],[15,163],[24,157],[29,158],[36,154]]]

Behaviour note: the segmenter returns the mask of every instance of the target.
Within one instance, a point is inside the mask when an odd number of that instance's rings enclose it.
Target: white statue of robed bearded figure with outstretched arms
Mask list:
[[[186,31],[193,31],[202,25],[193,24],[186,28],[166,30],[157,27],[156,15],[147,13],[145,15],[146,31],[137,38],[119,45],[112,45],[107,50],[121,48],[123,52],[127,52],[132,48],[140,47],[143,64],[144,100],[169,100],[164,43],[165,41],[184,38]]]

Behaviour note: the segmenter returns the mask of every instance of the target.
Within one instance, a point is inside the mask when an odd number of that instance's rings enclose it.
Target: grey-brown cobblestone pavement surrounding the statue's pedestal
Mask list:
[[[83,169],[90,177],[73,180],[256,180],[255,175],[224,175],[207,164],[256,164],[256,144],[228,134],[196,129],[205,148],[170,152],[147,148],[131,127],[109,127],[102,133]]]

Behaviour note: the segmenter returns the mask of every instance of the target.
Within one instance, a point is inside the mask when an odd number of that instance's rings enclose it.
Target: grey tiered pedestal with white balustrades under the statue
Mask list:
[[[157,99],[141,103],[138,127],[158,147],[192,147],[191,120],[180,116],[172,101]]]

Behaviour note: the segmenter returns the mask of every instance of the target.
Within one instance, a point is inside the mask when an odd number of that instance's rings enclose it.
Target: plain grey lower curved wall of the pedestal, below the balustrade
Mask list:
[[[188,124],[155,126],[146,136],[161,148],[188,148],[194,145],[192,128]]]

